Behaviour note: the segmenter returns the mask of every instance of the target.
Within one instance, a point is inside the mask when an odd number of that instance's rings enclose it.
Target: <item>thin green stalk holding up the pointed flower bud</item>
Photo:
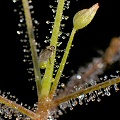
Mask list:
[[[63,72],[63,69],[65,67],[65,63],[66,63],[66,60],[67,60],[67,57],[68,57],[68,54],[69,54],[69,51],[70,51],[70,48],[71,48],[71,45],[72,45],[72,41],[73,41],[73,38],[74,38],[74,35],[76,33],[76,29],[73,28],[72,32],[71,32],[71,35],[70,35],[70,38],[69,38],[69,41],[67,43],[67,47],[66,47],[66,50],[64,52],[64,55],[63,55],[63,58],[62,58],[62,61],[60,63],[60,67],[58,69],[58,72],[56,74],[56,77],[55,77],[55,81],[52,85],[52,88],[51,88],[51,91],[50,91],[50,96],[52,97],[55,93],[55,90],[57,88],[57,85],[58,85],[58,82],[60,80],[60,77],[61,77],[61,74]]]

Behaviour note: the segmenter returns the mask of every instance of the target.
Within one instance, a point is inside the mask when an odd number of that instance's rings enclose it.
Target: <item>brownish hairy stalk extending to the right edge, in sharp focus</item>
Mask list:
[[[106,88],[108,86],[111,86],[111,85],[114,85],[114,84],[117,84],[117,83],[120,83],[120,77],[113,78],[111,80],[107,80],[105,82],[99,83],[97,85],[94,85],[94,86],[91,86],[91,87],[88,87],[88,88],[85,88],[85,89],[82,89],[82,90],[78,90],[78,91],[76,91],[74,93],[71,93],[67,96],[58,97],[54,100],[54,105],[53,106],[57,106],[60,103],[63,103],[67,100],[77,98],[78,96],[80,96],[82,94],[87,94],[87,93],[90,93],[92,91],[99,90],[101,88]]]

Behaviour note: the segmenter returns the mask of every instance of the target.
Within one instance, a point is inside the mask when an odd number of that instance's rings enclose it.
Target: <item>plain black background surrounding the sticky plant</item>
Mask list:
[[[39,21],[36,26],[39,29],[37,40],[40,39],[41,46],[45,46],[43,42],[48,32],[49,25],[46,25],[46,20],[53,20],[49,4],[55,4],[50,0],[34,0],[34,17]],[[64,74],[66,76],[76,73],[80,66],[85,66],[91,62],[93,57],[98,57],[98,50],[103,52],[108,47],[110,40],[113,37],[120,36],[120,8],[118,0],[71,0],[69,10],[64,12],[69,16],[67,21],[64,21],[66,26],[64,31],[71,32],[72,19],[76,12],[81,9],[89,8],[95,3],[99,3],[100,8],[95,15],[93,21],[84,29],[77,31],[73,41],[72,48],[68,61],[69,64],[65,67]],[[7,0],[4,5],[1,5],[1,80],[0,89],[3,92],[11,92],[20,102],[27,103],[32,106],[37,101],[36,90],[32,90],[34,82],[28,82],[27,64],[23,62],[23,44],[20,42],[21,37],[16,33],[18,30],[19,15],[13,12],[18,7],[18,4]],[[25,29],[25,28],[23,28]],[[66,46],[65,40],[62,47]],[[114,74],[120,70],[119,62],[111,66],[105,74]],[[71,71],[74,71],[71,73]],[[60,117],[60,120],[77,120],[98,119],[98,118],[117,118],[119,116],[120,107],[120,91],[111,93],[111,96],[101,98],[101,102],[90,102],[86,105],[78,105],[74,110]]]

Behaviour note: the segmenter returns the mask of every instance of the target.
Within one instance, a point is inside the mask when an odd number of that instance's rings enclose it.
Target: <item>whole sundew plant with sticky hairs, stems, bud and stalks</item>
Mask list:
[[[102,33],[96,33],[95,28],[100,27],[103,19],[95,19],[103,6],[98,1],[79,1],[45,0],[45,6],[37,0],[12,1],[17,41],[22,46],[17,57],[22,59],[25,70],[17,66],[20,72],[14,82],[20,86],[21,98],[11,94],[12,88],[1,90],[0,120],[62,119],[78,105],[120,94],[120,34],[114,32],[103,38]],[[107,42],[100,43],[100,39]],[[102,50],[99,45],[94,46],[97,42],[103,45]],[[92,56],[91,49],[95,50]]]

